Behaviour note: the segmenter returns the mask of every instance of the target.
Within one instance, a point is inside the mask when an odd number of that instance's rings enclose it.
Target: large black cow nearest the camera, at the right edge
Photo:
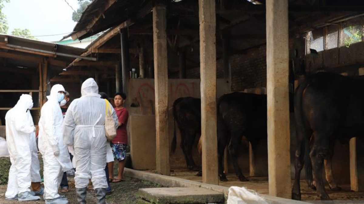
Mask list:
[[[314,177],[317,195],[321,200],[330,199],[322,178],[324,159],[331,159],[337,139],[348,142],[354,136],[364,136],[363,90],[363,78],[333,73],[314,74],[297,87],[294,109],[298,146],[292,199],[301,199],[300,172],[304,164],[309,185],[313,185]]]

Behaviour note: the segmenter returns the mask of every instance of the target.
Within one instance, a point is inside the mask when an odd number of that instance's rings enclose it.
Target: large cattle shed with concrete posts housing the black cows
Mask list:
[[[364,3],[355,0],[94,0],[65,38],[102,35],[78,53],[87,58],[67,61],[56,76],[50,75],[48,84],[62,83],[71,99],[80,96],[88,77],[110,98],[125,92],[134,169],[167,176],[173,169],[177,177],[245,185],[290,198],[296,144],[289,92],[304,73],[364,73],[363,17]],[[261,177],[256,179],[263,187],[234,176],[228,176],[233,183],[218,180],[216,99],[232,91],[267,94],[268,139],[257,152],[249,143],[242,145],[239,158],[245,175]],[[193,157],[201,164],[202,179],[181,173],[186,164],[180,148],[170,153],[171,107],[187,96],[201,98],[202,158],[197,139]],[[349,185],[348,191],[363,190],[359,143],[353,139],[335,146],[333,172]],[[226,156],[229,173],[230,163]],[[268,182],[261,181],[267,177]],[[313,200],[314,194],[305,199]]]

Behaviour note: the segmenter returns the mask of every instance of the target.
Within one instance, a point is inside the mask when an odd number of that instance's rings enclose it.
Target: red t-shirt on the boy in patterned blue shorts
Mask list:
[[[126,108],[120,110],[115,109],[115,112],[116,115],[118,115],[119,123],[122,123],[122,125],[119,126],[118,129],[116,130],[116,136],[111,141],[111,143],[128,144],[128,133],[126,131],[126,125],[128,124],[128,117],[129,117],[128,110],[126,110]]]

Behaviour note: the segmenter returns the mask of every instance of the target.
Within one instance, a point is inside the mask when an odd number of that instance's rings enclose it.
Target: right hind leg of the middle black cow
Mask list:
[[[241,136],[242,134],[233,133],[231,134],[230,144],[229,144],[229,154],[232,158],[235,174],[238,176],[240,181],[249,181],[245,176],[241,173],[241,169],[238,163],[238,150],[241,147]]]

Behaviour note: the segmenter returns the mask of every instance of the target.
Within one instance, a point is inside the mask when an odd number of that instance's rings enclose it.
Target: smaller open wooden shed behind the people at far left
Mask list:
[[[37,125],[41,106],[57,76],[86,50],[49,42],[0,35],[0,136],[5,137],[5,114],[21,94],[33,97],[31,114]],[[96,58],[84,57],[86,60]]]

